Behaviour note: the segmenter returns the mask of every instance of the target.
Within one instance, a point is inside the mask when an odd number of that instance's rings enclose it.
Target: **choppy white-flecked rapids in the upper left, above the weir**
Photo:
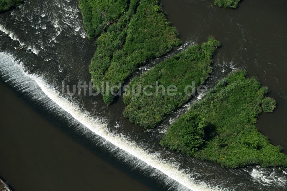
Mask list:
[[[33,6],[32,10],[31,6]],[[46,56],[48,46],[54,47],[59,43],[58,36],[62,31],[69,35],[87,37],[82,20],[79,19],[81,15],[79,8],[69,1],[54,0],[49,3],[27,1],[21,4],[19,9],[14,9],[10,15],[9,21],[1,20],[0,34],[3,32],[22,47],[27,47],[27,50],[30,50],[28,53]],[[6,22],[9,22],[9,25],[6,25]],[[49,23],[52,27],[47,25]],[[11,30],[15,27],[20,30]]]

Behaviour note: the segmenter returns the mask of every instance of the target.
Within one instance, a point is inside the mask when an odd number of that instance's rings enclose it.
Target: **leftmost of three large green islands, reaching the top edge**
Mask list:
[[[110,85],[123,83],[139,66],[181,44],[177,30],[166,20],[157,0],[80,0],[79,6],[89,37],[100,34],[90,65],[95,85],[100,86],[102,81]],[[121,11],[112,11],[115,7]],[[108,105],[114,102],[109,91],[103,98]]]

